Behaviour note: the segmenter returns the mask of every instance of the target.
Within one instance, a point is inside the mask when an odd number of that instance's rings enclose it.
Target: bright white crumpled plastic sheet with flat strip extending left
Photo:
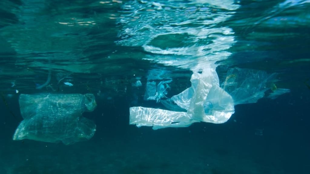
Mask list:
[[[195,122],[224,123],[234,113],[232,97],[219,87],[219,79],[213,68],[194,72],[192,86],[173,96],[173,101],[186,112],[169,111],[157,108],[131,107],[130,124],[153,126],[153,129],[166,127],[188,127]],[[221,97],[219,97],[221,96]],[[175,107],[166,102],[169,109]]]

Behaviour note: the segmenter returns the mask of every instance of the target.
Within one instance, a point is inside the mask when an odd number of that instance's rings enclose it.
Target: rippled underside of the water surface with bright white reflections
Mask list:
[[[283,62],[293,55],[286,47],[302,58],[307,46],[296,37],[309,38],[309,1],[25,0],[3,1],[0,8],[0,71],[8,93],[16,90],[13,82],[19,90],[35,89],[49,71],[50,85],[60,84],[61,73],[71,74],[74,86],[94,88],[109,78],[131,84],[154,65],[173,66],[166,67],[171,77],[210,62],[219,63],[220,79],[229,66],[283,73],[298,63]]]

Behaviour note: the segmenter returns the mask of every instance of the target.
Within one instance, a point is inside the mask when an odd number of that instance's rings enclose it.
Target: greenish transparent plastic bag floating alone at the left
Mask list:
[[[82,116],[96,108],[93,94],[21,94],[19,104],[24,120],[16,128],[13,140],[69,145],[89,140],[96,131],[95,123]]]

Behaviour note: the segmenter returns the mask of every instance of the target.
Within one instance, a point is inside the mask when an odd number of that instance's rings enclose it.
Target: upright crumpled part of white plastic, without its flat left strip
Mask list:
[[[194,120],[209,123],[226,122],[234,113],[234,103],[232,97],[219,87],[215,70],[210,68],[202,73],[193,73],[191,82],[192,89],[188,91],[193,93],[182,92],[173,96],[172,100],[186,109]]]

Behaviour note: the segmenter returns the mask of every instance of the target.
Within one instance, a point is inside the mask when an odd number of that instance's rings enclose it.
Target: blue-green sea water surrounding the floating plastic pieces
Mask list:
[[[0,17],[1,174],[310,172],[309,1],[4,0]],[[214,63],[220,83],[262,70],[290,93],[236,105],[223,124],[129,125],[130,107],[162,108],[144,100],[149,79],[172,79],[172,97]],[[13,141],[19,95],[39,93],[94,94],[94,137]]]

